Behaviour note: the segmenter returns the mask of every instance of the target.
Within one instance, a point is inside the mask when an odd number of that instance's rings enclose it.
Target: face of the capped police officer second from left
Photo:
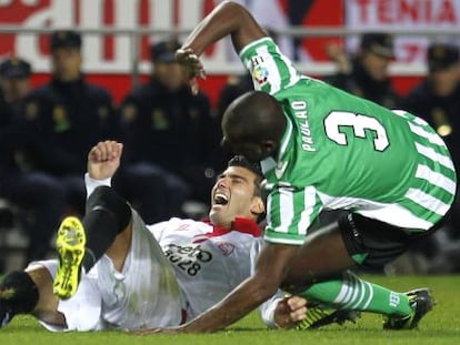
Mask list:
[[[73,81],[80,78],[81,53],[76,48],[57,48],[52,52],[54,77],[60,81]]]

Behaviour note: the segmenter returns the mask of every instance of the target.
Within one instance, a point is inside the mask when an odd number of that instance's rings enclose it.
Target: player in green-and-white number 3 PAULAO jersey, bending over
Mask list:
[[[341,272],[379,268],[439,227],[457,183],[444,143],[412,114],[299,73],[233,2],[217,7],[177,52],[192,89],[203,74],[198,57],[228,34],[257,91],[226,111],[223,143],[261,162],[269,191],[266,245],[252,277],[197,319],[166,332],[223,328],[278,286],[339,310],[387,314],[384,328],[416,327],[432,305],[428,290],[396,294]],[[348,212],[310,234],[322,210]]]

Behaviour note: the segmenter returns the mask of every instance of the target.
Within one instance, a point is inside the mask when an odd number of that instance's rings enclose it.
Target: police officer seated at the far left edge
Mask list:
[[[24,60],[9,58],[0,63],[0,197],[17,206],[17,221],[29,235],[26,262],[48,253],[64,210],[63,190],[46,173],[29,172],[21,160],[30,138],[22,121],[30,74]]]

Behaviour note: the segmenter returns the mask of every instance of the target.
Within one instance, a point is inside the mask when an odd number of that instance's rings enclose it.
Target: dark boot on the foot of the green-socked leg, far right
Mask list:
[[[412,329],[419,325],[420,319],[433,307],[433,298],[429,288],[417,288],[406,293],[413,312],[403,317],[387,316],[383,329]]]

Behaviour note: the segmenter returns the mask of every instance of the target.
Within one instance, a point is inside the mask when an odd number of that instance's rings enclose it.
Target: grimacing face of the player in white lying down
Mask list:
[[[261,197],[254,195],[256,181],[257,175],[244,168],[228,168],[212,189],[211,222],[230,229],[237,217],[256,220],[264,211]]]

